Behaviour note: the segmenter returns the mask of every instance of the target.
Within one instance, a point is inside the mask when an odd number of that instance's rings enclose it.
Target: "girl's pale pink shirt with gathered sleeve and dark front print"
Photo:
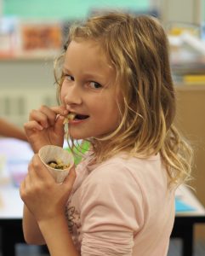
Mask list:
[[[174,224],[174,189],[160,155],[118,154],[77,166],[66,207],[73,241],[83,256],[165,256]]]

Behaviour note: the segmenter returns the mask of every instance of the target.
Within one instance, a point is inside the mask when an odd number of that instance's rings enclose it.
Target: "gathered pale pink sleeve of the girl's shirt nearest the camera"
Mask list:
[[[126,167],[95,169],[83,183],[81,210],[81,255],[132,255],[144,209],[140,187]]]

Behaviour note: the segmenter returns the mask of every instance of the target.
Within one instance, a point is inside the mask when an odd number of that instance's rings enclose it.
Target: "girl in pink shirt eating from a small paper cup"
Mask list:
[[[59,79],[60,107],[32,111],[35,153],[71,140],[90,143],[64,183],[37,154],[20,195],[28,243],[52,256],[165,256],[174,190],[191,172],[191,149],[174,127],[168,39],[149,16],[110,13],[72,26]]]

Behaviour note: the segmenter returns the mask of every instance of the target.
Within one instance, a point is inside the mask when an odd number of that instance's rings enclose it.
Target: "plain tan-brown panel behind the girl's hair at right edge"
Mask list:
[[[194,149],[191,186],[205,206],[205,84],[177,87],[176,125]],[[196,237],[205,238],[205,224],[197,225]]]

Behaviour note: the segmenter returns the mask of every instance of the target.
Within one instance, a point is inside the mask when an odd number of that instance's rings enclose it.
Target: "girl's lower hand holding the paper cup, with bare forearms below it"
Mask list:
[[[20,196],[25,202],[23,229],[26,241],[47,244],[51,256],[77,256],[65,218],[65,205],[76,179],[73,167],[64,183],[56,183],[38,155],[28,166],[20,184]]]

